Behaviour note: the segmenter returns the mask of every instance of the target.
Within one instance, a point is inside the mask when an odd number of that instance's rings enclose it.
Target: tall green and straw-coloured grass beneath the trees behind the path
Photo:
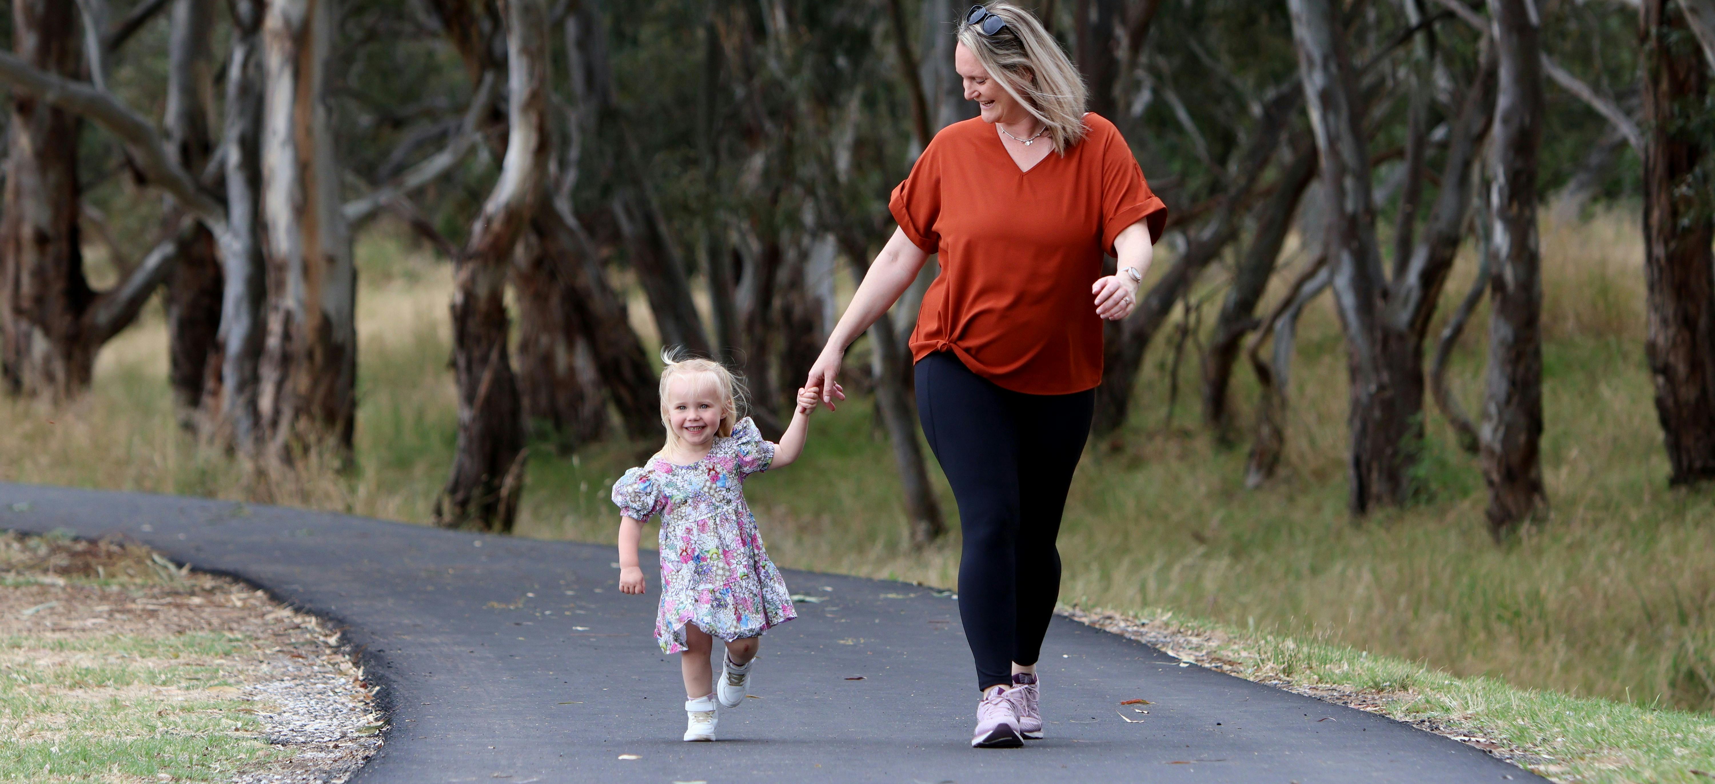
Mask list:
[[[1158,341],[1137,410],[1091,448],[1072,489],[1062,597],[1118,611],[1175,609],[1262,633],[1315,636],[1454,674],[1638,705],[1715,709],[1715,494],[1669,491],[1643,362],[1636,213],[1544,226],[1550,516],[1495,546],[1482,475],[1427,413],[1422,499],[1362,523],[1345,511],[1346,374],[1326,302],[1300,328],[1288,449],[1276,480],[1243,489],[1243,448],[1195,422],[1195,360],[1170,419],[1171,345]],[[424,522],[453,449],[446,369],[449,278],[398,233],[358,247],[357,463],[257,482],[173,425],[165,335],[151,314],[99,360],[94,391],[65,408],[0,403],[9,480],[261,498]],[[1470,283],[1461,259],[1447,304]],[[1475,410],[1485,314],[1454,355]],[[648,324],[643,324],[645,328]],[[1437,326],[1439,328],[1439,326]],[[1238,374],[1238,420],[1254,384]],[[51,424],[50,424],[51,422]],[[612,540],[607,487],[638,444],[533,449],[518,534]],[[936,473],[943,508],[955,513]],[[751,503],[785,566],[952,585],[959,535],[912,547],[892,460],[866,401],[813,420],[804,460],[758,477]]]

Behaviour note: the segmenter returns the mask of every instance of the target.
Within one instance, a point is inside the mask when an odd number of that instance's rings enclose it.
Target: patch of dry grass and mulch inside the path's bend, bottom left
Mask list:
[[[343,781],[374,753],[281,731],[305,710],[281,702],[360,676],[338,635],[259,590],[135,544],[15,534],[0,585],[0,781]],[[360,724],[362,700],[312,710]]]

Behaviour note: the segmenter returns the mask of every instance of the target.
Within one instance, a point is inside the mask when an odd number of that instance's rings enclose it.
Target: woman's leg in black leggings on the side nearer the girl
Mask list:
[[[959,499],[964,552],[959,619],[976,657],[978,690],[1012,684],[1019,444],[1003,389],[952,353],[918,362],[918,417]]]

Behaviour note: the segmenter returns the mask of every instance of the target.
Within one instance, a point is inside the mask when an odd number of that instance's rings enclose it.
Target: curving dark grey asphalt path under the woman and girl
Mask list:
[[[720,741],[683,743],[648,556],[650,594],[628,597],[604,546],[15,484],[0,527],[132,537],[343,626],[393,722],[357,782],[1542,781],[1063,618],[1043,647],[1046,739],[972,750],[957,599],[804,571],[787,585],[820,602],[763,638],[758,698],[722,712]]]

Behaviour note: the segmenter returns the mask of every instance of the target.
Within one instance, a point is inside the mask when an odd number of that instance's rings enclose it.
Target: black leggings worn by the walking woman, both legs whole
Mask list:
[[[1060,597],[1060,513],[1084,453],[1096,391],[1002,389],[940,352],[918,362],[918,417],[959,499],[959,619],[976,684],[1036,664]]]

